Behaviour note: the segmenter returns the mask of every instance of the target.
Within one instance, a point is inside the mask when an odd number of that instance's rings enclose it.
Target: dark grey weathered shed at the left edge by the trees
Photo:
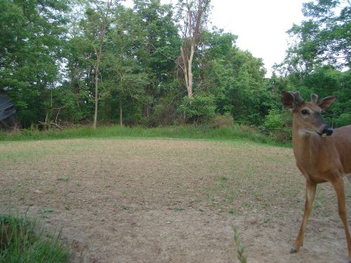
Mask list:
[[[20,128],[15,104],[7,95],[0,93],[0,129],[13,130],[15,128]]]

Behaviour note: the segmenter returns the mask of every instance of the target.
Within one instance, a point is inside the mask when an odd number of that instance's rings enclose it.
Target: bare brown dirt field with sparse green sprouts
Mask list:
[[[305,200],[292,149],[243,141],[0,142],[0,169],[0,213],[28,210],[48,231],[62,229],[70,262],[239,262],[232,226],[248,262],[347,262],[329,184],[317,189],[303,248],[289,254]]]

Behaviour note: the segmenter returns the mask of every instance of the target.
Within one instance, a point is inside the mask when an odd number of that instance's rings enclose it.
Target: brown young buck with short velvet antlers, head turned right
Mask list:
[[[351,175],[351,125],[333,130],[321,116],[321,112],[328,109],[335,100],[335,96],[318,100],[318,96],[312,94],[311,102],[306,102],[298,92],[282,93],[284,107],[293,111],[293,154],[296,166],[306,178],[303,222],[290,252],[298,252],[303,245],[317,184],[331,182],[338,197],[338,212],[345,229],[348,260],[351,263],[351,237],[347,225],[343,181],[343,175]]]

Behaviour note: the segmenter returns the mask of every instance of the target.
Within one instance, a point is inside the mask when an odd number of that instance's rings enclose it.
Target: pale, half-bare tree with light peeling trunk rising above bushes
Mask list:
[[[183,42],[180,46],[180,67],[183,69],[187,95],[193,97],[192,63],[195,48],[201,43],[201,34],[208,22],[211,0],[180,0],[178,2],[178,19],[183,23]]]

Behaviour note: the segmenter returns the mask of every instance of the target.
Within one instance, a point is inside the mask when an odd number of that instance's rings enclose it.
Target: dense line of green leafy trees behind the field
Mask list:
[[[222,118],[283,133],[282,90],[337,95],[327,118],[350,124],[350,5],[335,14],[339,1],[323,2],[332,5],[305,4],[307,22],[293,25],[286,60],[267,79],[263,61],[237,48],[238,36],[209,28],[209,0],[134,0],[133,8],[111,0],[3,0],[0,92],[15,103],[23,128]],[[323,22],[317,5],[328,11]]]

